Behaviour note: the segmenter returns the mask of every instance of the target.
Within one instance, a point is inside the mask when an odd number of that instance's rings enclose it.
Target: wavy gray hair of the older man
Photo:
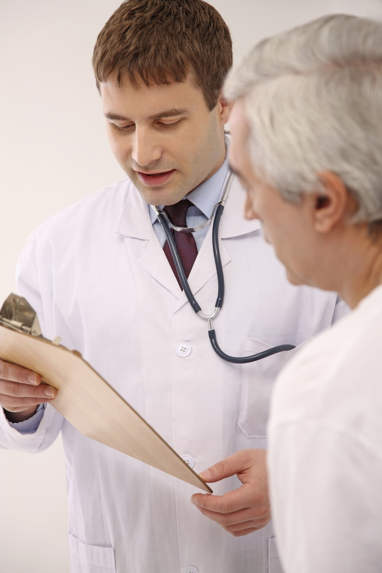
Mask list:
[[[267,38],[225,93],[245,101],[254,168],[285,199],[332,171],[357,198],[353,222],[382,219],[382,23],[337,14]]]

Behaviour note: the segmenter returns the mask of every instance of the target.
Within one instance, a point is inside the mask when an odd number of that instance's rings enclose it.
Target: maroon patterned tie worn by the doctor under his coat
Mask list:
[[[183,199],[183,201],[179,201],[178,203],[175,203],[175,205],[167,205],[163,210],[173,225],[176,225],[177,227],[187,227],[186,215],[188,207],[191,205],[191,201],[188,201],[188,199]],[[174,237],[180,260],[182,261],[184,273],[188,278],[188,275],[192,269],[192,265],[195,262],[196,255],[198,254],[195,239],[191,233],[180,233],[180,231],[174,231],[174,229],[171,229],[171,233]],[[168,244],[167,240],[163,246],[163,250],[166,254],[168,262],[170,262],[172,272],[174,272],[176,280],[178,280],[179,286],[183,291],[182,282],[180,282],[180,278],[175,267],[175,262],[172,258],[170,245]]]

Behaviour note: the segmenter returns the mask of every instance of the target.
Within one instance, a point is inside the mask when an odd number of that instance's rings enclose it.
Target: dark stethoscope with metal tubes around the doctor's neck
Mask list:
[[[156,207],[155,205],[151,205],[151,207],[155,211],[158,221],[162,225],[164,233],[166,233],[168,245],[170,246],[171,254],[172,257],[174,258],[175,267],[176,270],[178,271],[180,282],[182,283],[183,286],[183,291],[186,293],[187,299],[191,304],[191,307],[196,312],[196,314],[199,315],[202,319],[207,320],[208,322],[208,336],[210,337],[212,348],[214,349],[216,354],[220,356],[220,358],[226,360],[227,362],[233,362],[234,364],[245,364],[247,362],[255,362],[255,360],[261,360],[262,358],[266,358],[267,356],[271,356],[272,354],[277,354],[277,352],[292,350],[292,348],[295,347],[292,346],[292,344],[281,344],[280,346],[274,346],[273,348],[269,348],[268,350],[264,350],[263,352],[258,352],[257,354],[253,354],[251,356],[237,357],[237,356],[229,356],[228,354],[223,352],[219,347],[218,342],[216,341],[216,333],[212,325],[212,319],[215,318],[220,308],[222,307],[223,297],[224,297],[223,265],[222,265],[222,260],[220,258],[220,249],[219,249],[219,223],[220,223],[220,218],[222,217],[224,211],[225,202],[231,187],[233,177],[234,177],[233,172],[229,170],[225,179],[225,184],[223,186],[224,191],[222,199],[214,206],[214,210],[212,211],[212,215],[208,219],[208,221],[205,221],[204,223],[196,227],[178,227],[176,225],[173,225],[170,219],[167,217],[166,213],[164,213],[164,211],[162,211],[161,209],[159,209],[159,207]],[[211,315],[204,315],[202,309],[200,308],[194,295],[191,292],[186,274],[184,273],[182,261],[180,261],[178,249],[176,248],[175,245],[174,237],[172,236],[171,233],[171,229],[174,229],[174,231],[179,231],[179,233],[195,233],[196,231],[200,231],[204,229],[204,227],[209,225],[210,222],[212,221],[212,218],[214,218],[214,224],[212,225],[212,249],[215,258],[216,274],[218,275],[218,298],[216,299],[214,312],[212,312]]]

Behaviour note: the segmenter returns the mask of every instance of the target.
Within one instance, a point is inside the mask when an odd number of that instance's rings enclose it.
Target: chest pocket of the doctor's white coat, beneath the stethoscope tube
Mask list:
[[[301,345],[300,345],[301,346]],[[269,416],[269,401],[274,379],[282,367],[298,351],[279,352],[267,358],[243,364],[242,390],[238,426],[247,438],[265,438]],[[254,338],[245,338],[243,356],[257,354],[271,348],[269,344]]]

